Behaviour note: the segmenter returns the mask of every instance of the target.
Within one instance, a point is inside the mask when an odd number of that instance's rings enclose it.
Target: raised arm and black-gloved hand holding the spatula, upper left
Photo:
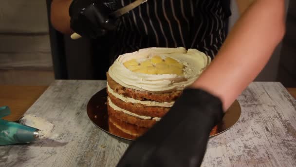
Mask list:
[[[104,0],[53,0],[51,23],[61,33],[75,32],[96,39],[114,30],[118,23],[110,17],[112,10],[106,3]]]

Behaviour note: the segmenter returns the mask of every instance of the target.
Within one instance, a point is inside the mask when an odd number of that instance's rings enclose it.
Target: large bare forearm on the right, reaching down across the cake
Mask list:
[[[226,110],[266,65],[284,25],[284,0],[255,0],[192,86],[220,97]]]

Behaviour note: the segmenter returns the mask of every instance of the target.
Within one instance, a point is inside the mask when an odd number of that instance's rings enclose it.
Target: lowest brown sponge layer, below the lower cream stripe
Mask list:
[[[141,118],[137,118],[135,116],[126,114],[122,111],[115,110],[110,106],[109,101],[108,101],[107,107],[108,107],[109,117],[114,117],[118,120],[121,120],[123,122],[129,123],[132,125],[138,125],[141,127],[152,127],[152,125],[156,123],[156,121],[153,119],[141,119]]]

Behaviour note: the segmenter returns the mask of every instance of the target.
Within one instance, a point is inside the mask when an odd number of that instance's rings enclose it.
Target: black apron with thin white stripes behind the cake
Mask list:
[[[229,15],[229,0],[148,0],[120,18],[111,60],[141,48],[181,46],[214,58],[225,39]]]

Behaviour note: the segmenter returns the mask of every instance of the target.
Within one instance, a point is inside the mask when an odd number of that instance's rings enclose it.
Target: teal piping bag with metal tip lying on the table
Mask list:
[[[0,107],[0,146],[26,144],[35,141],[38,135],[37,128],[2,120],[10,113],[8,106]]]

